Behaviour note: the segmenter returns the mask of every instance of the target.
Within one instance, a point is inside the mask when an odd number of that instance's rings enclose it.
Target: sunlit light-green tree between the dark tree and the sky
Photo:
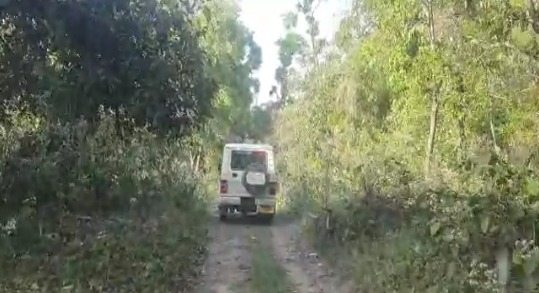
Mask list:
[[[218,90],[213,96],[212,119],[190,138],[193,162],[220,150],[232,137],[254,135],[251,106],[259,81],[252,74],[261,65],[261,50],[253,33],[239,21],[239,13],[236,2],[218,0],[205,2],[195,17],[197,29],[204,32],[199,42],[208,57],[205,67]]]

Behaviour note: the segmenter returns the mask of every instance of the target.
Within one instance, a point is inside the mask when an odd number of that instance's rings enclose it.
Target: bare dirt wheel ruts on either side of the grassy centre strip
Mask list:
[[[299,225],[276,219],[273,226],[255,219],[213,219],[210,227],[209,254],[203,269],[203,282],[197,293],[251,292],[253,239],[273,250],[276,261],[295,284],[290,292],[351,293],[351,285],[342,284],[317,257],[309,255],[299,238]],[[266,293],[266,292],[253,292]]]

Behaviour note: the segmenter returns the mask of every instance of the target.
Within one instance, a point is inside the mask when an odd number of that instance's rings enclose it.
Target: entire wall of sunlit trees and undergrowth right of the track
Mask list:
[[[274,139],[358,291],[536,290],[535,1],[356,1],[329,46],[301,3],[313,41]]]

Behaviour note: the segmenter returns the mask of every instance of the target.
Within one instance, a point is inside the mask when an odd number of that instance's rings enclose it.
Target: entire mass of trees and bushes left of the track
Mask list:
[[[0,4],[0,291],[191,292],[212,160],[255,131],[235,4]]]

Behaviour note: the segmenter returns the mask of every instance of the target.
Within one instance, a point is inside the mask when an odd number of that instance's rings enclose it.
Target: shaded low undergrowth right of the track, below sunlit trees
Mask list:
[[[374,185],[327,205],[313,193],[291,194],[289,204],[303,215],[309,239],[327,259],[339,260],[333,265],[358,291],[533,292],[537,179],[495,155],[474,174],[469,180],[482,178],[483,185],[475,193],[418,185],[391,196]]]

